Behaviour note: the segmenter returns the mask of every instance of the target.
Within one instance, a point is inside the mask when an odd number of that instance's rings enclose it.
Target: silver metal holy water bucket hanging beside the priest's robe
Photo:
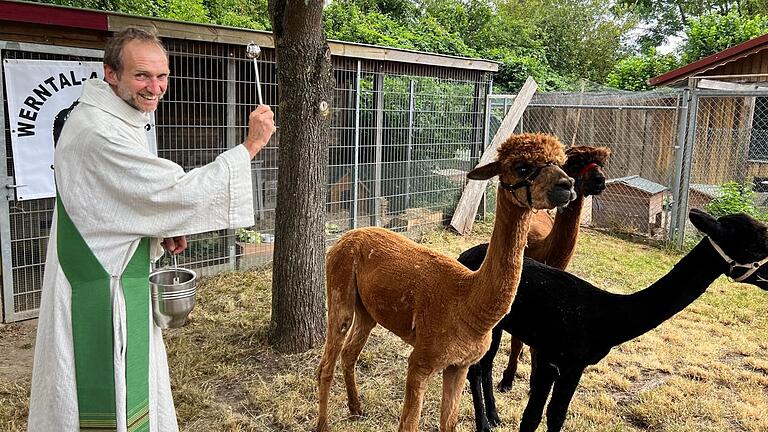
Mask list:
[[[173,265],[149,274],[152,294],[152,318],[161,329],[178,328],[187,322],[187,316],[195,307],[197,274],[180,268],[176,255]]]

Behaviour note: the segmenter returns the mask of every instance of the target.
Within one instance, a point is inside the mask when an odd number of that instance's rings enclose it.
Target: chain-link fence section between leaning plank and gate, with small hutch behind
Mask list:
[[[550,133],[566,147],[610,148],[604,167],[606,190],[587,200],[582,220],[663,238],[670,228],[681,95],[680,91],[537,94],[515,131]],[[513,100],[509,95],[491,96],[491,134]]]

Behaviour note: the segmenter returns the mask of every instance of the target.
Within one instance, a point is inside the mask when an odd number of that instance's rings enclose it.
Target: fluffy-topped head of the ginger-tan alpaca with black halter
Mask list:
[[[494,162],[467,173],[472,180],[499,176],[500,186],[520,207],[555,208],[576,198],[573,179],[560,166],[563,144],[552,135],[512,135],[499,146]]]

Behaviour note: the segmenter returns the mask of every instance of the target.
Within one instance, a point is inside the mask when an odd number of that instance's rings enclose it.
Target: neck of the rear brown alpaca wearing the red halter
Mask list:
[[[552,231],[544,239],[544,258],[539,261],[562,270],[568,267],[573,251],[576,249],[583,205],[584,197],[580,194],[563,212],[557,214]]]

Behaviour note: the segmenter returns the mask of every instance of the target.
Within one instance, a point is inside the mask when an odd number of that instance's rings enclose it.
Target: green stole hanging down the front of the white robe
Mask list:
[[[112,277],[72,223],[59,196],[56,251],[72,287],[72,340],[81,431],[117,429]],[[117,276],[116,276],[117,277]],[[128,432],[149,431],[149,239],[143,238],[120,280],[126,309]]]

